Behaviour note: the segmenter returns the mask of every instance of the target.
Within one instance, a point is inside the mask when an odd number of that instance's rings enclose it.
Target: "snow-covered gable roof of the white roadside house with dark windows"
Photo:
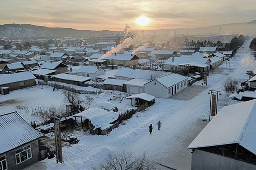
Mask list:
[[[159,78],[153,79],[152,81],[157,81],[160,84],[164,85],[166,88],[169,88],[179,82],[182,82],[184,80],[188,79],[185,76],[169,73],[168,75],[161,76]]]

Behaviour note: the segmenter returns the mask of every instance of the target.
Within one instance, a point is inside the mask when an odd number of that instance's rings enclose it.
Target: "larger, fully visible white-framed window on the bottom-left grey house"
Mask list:
[[[19,150],[16,150],[15,157],[16,157],[16,164],[19,164],[21,162],[24,162],[30,159],[32,157],[30,145],[20,148]]]

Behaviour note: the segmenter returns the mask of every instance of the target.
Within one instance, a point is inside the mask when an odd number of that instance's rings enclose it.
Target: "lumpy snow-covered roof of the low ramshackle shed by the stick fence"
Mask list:
[[[113,111],[108,112],[101,108],[92,107],[74,116],[81,116],[84,119],[91,120],[91,123],[95,126],[94,129],[100,127],[103,130],[111,127],[110,123],[117,120],[119,113]]]

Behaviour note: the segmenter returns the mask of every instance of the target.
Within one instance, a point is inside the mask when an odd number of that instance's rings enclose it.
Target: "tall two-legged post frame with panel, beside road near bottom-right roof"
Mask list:
[[[215,116],[218,112],[218,95],[221,95],[218,90],[209,90],[210,95],[210,111],[209,111],[209,121],[211,121],[211,115]]]

